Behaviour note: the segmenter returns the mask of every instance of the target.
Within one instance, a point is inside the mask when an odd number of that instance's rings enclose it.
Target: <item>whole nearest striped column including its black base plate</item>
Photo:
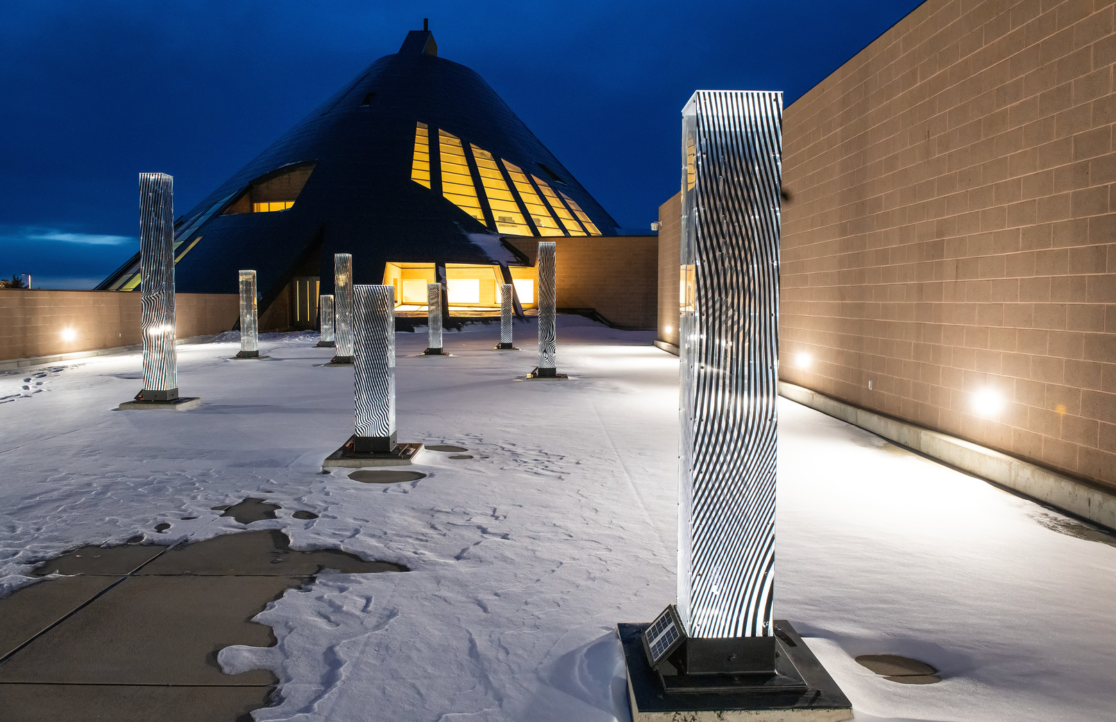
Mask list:
[[[682,117],[677,606],[620,625],[635,719],[849,719],[772,615],[782,94],[700,90]]]

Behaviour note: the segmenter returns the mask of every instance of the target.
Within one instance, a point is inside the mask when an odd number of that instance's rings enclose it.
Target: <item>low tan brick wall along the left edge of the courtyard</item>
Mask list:
[[[235,295],[179,293],[175,299],[179,338],[229,330],[240,315]],[[62,337],[67,329],[73,340]],[[140,293],[0,289],[0,360],[140,343]]]

